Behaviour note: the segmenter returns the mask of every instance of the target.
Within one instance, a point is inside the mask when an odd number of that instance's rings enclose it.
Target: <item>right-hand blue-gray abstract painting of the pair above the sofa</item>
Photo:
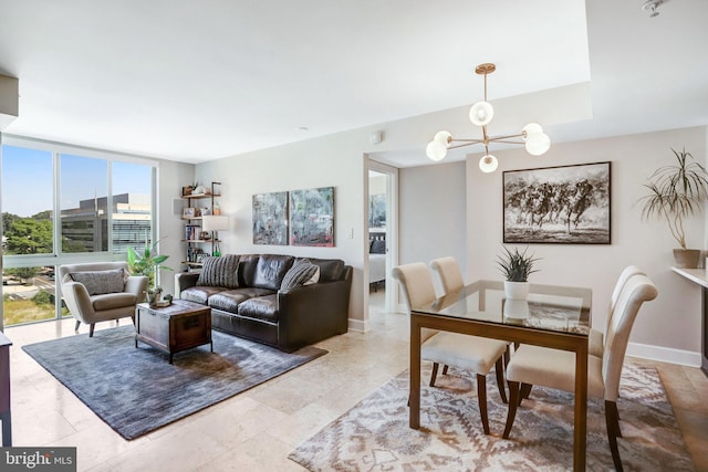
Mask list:
[[[290,243],[334,248],[334,187],[290,192]]]

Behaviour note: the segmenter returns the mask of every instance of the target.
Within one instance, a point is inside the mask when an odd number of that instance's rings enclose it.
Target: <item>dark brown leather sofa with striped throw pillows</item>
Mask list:
[[[308,262],[319,280],[293,284],[294,266]],[[346,333],[351,286],[352,266],[339,259],[226,254],[178,274],[175,292],[210,306],[212,328],[293,352]]]

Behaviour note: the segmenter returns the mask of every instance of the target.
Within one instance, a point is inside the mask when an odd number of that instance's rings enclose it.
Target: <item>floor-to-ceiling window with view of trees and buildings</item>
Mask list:
[[[156,164],[7,136],[0,151],[0,327],[66,316],[59,265],[123,260],[153,239]]]

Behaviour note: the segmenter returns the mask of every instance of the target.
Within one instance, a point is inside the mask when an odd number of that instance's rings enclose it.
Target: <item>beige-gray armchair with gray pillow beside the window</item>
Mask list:
[[[97,322],[135,317],[135,305],[145,298],[147,277],[129,275],[126,262],[95,262],[59,268],[64,302],[88,336]]]

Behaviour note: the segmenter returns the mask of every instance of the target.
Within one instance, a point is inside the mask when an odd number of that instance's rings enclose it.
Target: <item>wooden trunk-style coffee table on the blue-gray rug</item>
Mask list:
[[[175,300],[165,307],[139,303],[135,308],[135,347],[137,342],[173,355],[211,342],[211,308],[185,300]]]

